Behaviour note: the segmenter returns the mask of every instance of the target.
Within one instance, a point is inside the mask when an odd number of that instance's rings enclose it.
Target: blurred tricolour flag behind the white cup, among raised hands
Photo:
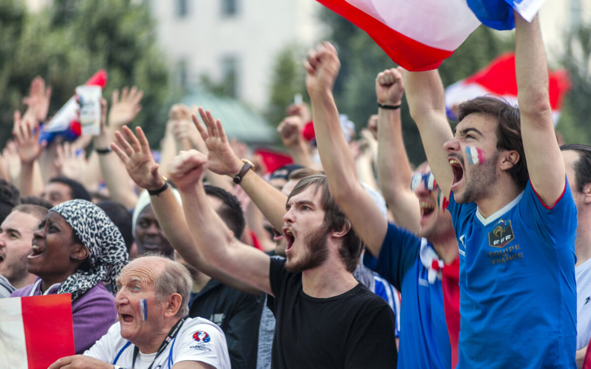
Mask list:
[[[100,86],[105,88],[107,83],[107,72],[104,69],[96,72],[89,80],[86,86]],[[80,106],[76,102],[76,96],[70,99],[61,107],[51,120],[43,125],[41,129],[40,141],[51,142],[56,136],[60,135],[66,141],[72,141],[80,136],[80,122],[78,121],[78,112]]]

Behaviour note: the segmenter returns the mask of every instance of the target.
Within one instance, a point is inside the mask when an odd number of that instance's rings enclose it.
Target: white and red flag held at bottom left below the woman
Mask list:
[[[47,369],[74,353],[69,293],[0,299],[0,368]]]

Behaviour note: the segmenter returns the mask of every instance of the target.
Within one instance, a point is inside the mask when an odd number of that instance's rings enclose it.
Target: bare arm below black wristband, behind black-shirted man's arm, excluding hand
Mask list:
[[[251,285],[242,283],[205,262],[199,248],[193,241],[193,237],[191,237],[184,218],[183,208],[178,204],[172,191],[164,191],[158,196],[152,196],[150,201],[158,224],[160,224],[166,238],[187,263],[227,286],[252,295],[261,293],[260,290]]]

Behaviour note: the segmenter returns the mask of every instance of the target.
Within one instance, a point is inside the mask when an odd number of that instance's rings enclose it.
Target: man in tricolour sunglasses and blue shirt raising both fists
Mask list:
[[[332,97],[340,66],[335,48],[323,43],[309,53],[308,60],[313,64],[309,73],[313,70],[323,81],[317,88],[320,92],[310,96],[316,142],[330,193],[367,247],[366,266],[376,270],[402,295],[398,367],[450,368],[452,358],[439,269],[456,259],[457,241],[449,212],[441,211],[443,198],[437,201],[437,185],[428,166],[417,173],[413,185],[417,194],[411,191],[410,165],[397,108],[404,92],[401,71],[385,70],[376,78],[377,99],[382,106],[378,110],[378,177],[397,221],[394,225],[388,224],[359,182],[355,162],[339,128],[339,114]],[[434,243],[402,227],[419,231]]]

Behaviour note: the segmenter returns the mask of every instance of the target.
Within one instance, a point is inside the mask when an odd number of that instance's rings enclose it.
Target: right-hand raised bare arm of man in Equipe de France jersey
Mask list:
[[[532,187],[553,206],[564,191],[564,160],[554,134],[548,96],[548,65],[536,16],[531,23],[515,15],[515,74],[521,136]]]

